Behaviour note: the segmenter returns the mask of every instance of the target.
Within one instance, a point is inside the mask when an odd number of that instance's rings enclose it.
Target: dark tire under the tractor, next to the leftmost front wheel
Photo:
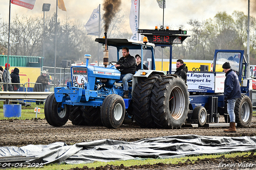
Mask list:
[[[81,111],[81,106],[69,106],[70,108],[70,114],[69,114],[69,120],[72,122],[73,125],[87,125],[83,118],[83,112]]]

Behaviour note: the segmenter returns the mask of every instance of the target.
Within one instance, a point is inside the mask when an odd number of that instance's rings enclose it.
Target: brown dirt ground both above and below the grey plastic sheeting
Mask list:
[[[224,122],[221,117],[220,123]],[[117,129],[108,129],[105,127],[89,127],[89,126],[75,126],[70,121],[63,127],[52,127],[45,119],[32,119],[32,120],[0,120],[1,139],[0,146],[26,146],[28,144],[50,144],[53,142],[65,142],[68,145],[89,142],[100,139],[113,139],[133,142],[143,138],[153,138],[160,136],[172,136],[181,134],[196,134],[202,136],[256,136],[256,117],[252,118],[250,127],[238,127],[236,133],[224,133],[224,128],[182,128],[182,129],[147,129],[140,128],[136,123],[127,122]],[[155,164],[155,165],[140,165],[140,166],[105,166],[95,167],[96,170],[111,170],[111,169],[124,169],[124,170],[200,170],[200,169],[256,169],[256,155],[234,158],[216,158],[198,160],[191,163],[187,160],[185,163],[179,164]],[[253,167],[238,167],[240,163],[254,164]],[[234,163],[234,167],[219,167],[219,164]],[[239,163],[239,164],[238,164]],[[240,164],[241,165],[241,164]],[[76,170],[88,170],[89,168],[75,168]],[[95,170],[91,168],[91,170]]]

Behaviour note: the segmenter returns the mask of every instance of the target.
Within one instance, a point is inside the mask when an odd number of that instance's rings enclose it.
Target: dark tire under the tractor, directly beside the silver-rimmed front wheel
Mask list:
[[[87,125],[89,126],[102,126],[100,119],[100,107],[84,106],[81,107],[83,112],[83,118]]]

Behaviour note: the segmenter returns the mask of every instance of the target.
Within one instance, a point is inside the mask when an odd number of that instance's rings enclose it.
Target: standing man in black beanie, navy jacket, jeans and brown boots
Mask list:
[[[229,129],[225,129],[224,132],[236,132],[234,108],[236,100],[241,97],[240,83],[237,74],[231,69],[229,62],[224,63],[222,68],[226,73],[224,100],[225,102],[228,102],[228,115],[230,117]]]

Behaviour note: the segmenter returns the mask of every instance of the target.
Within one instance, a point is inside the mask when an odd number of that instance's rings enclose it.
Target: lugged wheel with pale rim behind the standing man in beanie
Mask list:
[[[248,127],[252,121],[252,102],[247,95],[242,94],[237,99],[234,109],[238,127]]]

